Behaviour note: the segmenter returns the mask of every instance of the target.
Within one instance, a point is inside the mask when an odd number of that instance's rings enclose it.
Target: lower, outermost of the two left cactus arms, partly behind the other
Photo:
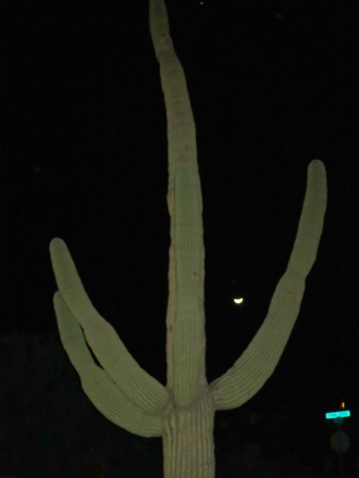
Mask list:
[[[132,433],[141,437],[161,436],[161,416],[147,414],[134,405],[107,372],[96,365],[81,325],[59,291],[54,294],[53,304],[62,344],[81,377],[85,393],[96,408],[110,422]]]

